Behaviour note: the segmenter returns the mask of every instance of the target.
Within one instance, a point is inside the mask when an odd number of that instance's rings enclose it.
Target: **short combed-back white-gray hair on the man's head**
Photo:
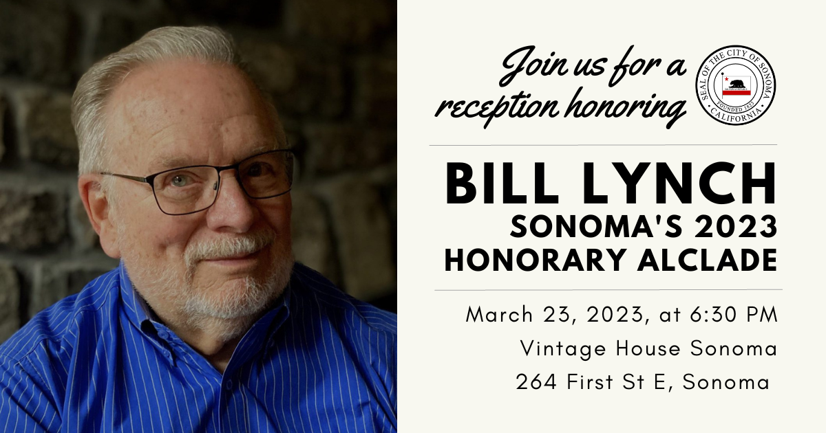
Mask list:
[[[161,27],[126,48],[109,54],[83,74],[72,96],[72,124],[80,150],[79,174],[107,170],[111,148],[104,145],[104,108],[112,91],[133,69],[170,59],[225,64],[238,68],[249,77],[232,36],[216,27]],[[261,92],[259,85],[253,83],[278,125],[278,114],[272,102]],[[283,132],[280,127],[277,130],[278,141],[284,144]]]

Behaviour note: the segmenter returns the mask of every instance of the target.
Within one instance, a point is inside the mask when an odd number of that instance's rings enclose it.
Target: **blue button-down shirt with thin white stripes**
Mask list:
[[[0,346],[0,431],[396,431],[396,315],[296,265],[219,373],[121,266]]]

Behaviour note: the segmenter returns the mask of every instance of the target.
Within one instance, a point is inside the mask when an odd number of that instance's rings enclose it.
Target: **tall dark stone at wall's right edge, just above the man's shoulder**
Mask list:
[[[364,176],[337,179],[320,187],[330,209],[347,293],[363,300],[391,294],[396,265],[387,211],[377,188]]]

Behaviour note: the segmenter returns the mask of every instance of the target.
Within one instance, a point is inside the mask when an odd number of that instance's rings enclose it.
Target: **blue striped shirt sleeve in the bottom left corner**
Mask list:
[[[0,431],[59,431],[60,415],[51,395],[45,381],[26,360],[2,360]]]

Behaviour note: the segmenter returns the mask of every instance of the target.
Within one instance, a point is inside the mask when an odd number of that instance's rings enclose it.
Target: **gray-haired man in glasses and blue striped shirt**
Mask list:
[[[0,431],[396,430],[396,316],[293,264],[292,153],[230,38],[151,31],[73,120],[121,265],[0,347]]]

